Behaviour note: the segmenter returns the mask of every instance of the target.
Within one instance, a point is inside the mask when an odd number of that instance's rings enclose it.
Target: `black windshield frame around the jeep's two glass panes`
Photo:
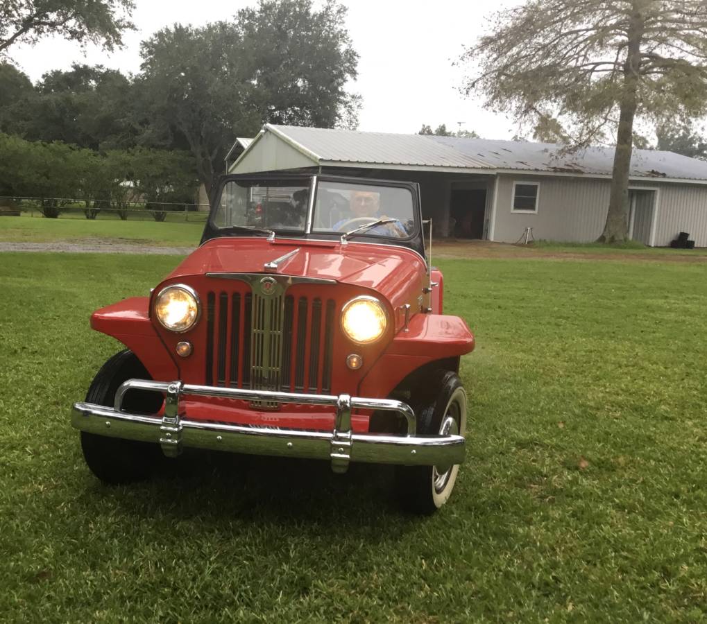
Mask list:
[[[331,175],[331,174],[315,174],[313,172],[308,173],[281,173],[281,172],[267,172],[260,174],[231,174],[223,175],[221,179],[218,180],[218,192],[214,194],[214,200],[211,201],[211,211],[209,212],[209,218],[206,220],[206,226],[204,228],[204,234],[201,237],[201,244],[211,240],[212,238],[224,238],[224,237],[264,237],[261,232],[254,230],[252,233],[239,231],[226,232],[226,228],[219,227],[214,223],[214,218],[216,216],[216,211],[221,201],[221,194],[223,193],[223,188],[230,181],[238,182],[261,182],[267,184],[267,182],[299,182],[301,186],[307,186],[309,188],[309,205],[307,208],[307,215],[305,217],[305,227],[303,230],[286,230],[286,229],[274,229],[276,239],[296,239],[296,240],[325,240],[338,242],[341,240],[342,232],[325,232],[321,230],[316,230],[312,232],[312,221],[314,218],[315,206],[317,204],[317,193],[320,189],[320,184],[322,182],[337,182],[339,184],[365,184],[366,186],[379,186],[379,187],[395,187],[399,189],[407,189],[411,194],[412,199],[412,210],[414,216],[414,228],[408,237],[393,237],[384,236],[380,234],[367,235],[366,232],[357,233],[356,237],[349,241],[351,243],[369,243],[374,245],[390,245],[394,247],[407,247],[413,249],[417,252],[423,259],[426,260],[425,248],[423,245],[423,235],[422,235],[422,211],[420,205],[420,189],[417,182],[405,182],[400,180],[387,180],[378,178],[368,178],[368,177],[351,177],[343,175]]]

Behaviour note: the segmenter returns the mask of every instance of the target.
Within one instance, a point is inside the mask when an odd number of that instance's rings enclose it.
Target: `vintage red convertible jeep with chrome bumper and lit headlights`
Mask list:
[[[223,177],[201,246],[91,317],[127,351],[74,404],[86,463],[107,483],[182,447],[397,464],[404,504],[433,512],[464,459],[474,348],[442,294],[416,184]]]

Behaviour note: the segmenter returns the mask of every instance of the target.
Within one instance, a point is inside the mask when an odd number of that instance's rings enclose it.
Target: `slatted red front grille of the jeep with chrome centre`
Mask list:
[[[329,394],[335,308],[286,291],[208,293],[206,385]]]

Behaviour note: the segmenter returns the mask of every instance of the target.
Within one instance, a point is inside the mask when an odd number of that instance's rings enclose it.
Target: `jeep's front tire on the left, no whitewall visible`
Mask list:
[[[112,407],[120,384],[133,378],[151,379],[132,351],[116,353],[94,377],[86,394],[86,402]],[[161,406],[162,399],[155,392],[132,391],[126,394],[123,402],[123,408],[132,413],[153,414]],[[160,457],[160,448],[156,444],[86,431],[81,432],[81,449],[90,471],[110,485],[144,481],[151,476]]]

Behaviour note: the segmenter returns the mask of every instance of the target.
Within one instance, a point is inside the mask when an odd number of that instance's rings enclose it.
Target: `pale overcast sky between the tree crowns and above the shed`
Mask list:
[[[113,54],[58,39],[35,47],[9,50],[20,69],[33,81],[52,69],[69,69],[72,62],[103,64],[124,73],[139,71],[140,41],[175,22],[204,24],[227,20],[255,0],[165,1],[136,0],[134,22],[139,30],[124,37],[125,47]],[[515,0],[344,0],[347,25],[360,55],[358,80],[351,90],[363,96],[359,129],[419,131],[421,125],[446,124],[448,129],[475,130],[486,139],[507,139],[517,127],[505,117],[464,98],[459,88],[464,69],[452,62],[482,32],[484,16],[516,4]]]

